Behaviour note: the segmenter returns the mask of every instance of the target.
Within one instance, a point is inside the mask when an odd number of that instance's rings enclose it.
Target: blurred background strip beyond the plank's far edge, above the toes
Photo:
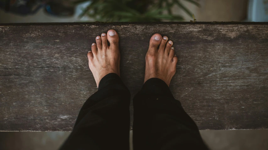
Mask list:
[[[0,0],[0,23],[268,21],[268,0]]]

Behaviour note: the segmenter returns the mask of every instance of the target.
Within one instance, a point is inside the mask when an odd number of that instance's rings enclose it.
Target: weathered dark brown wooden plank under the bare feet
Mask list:
[[[170,89],[200,130],[268,128],[268,23],[26,23],[0,25],[0,130],[71,131],[97,91],[87,52],[109,29],[132,97],[160,33],[179,58]]]

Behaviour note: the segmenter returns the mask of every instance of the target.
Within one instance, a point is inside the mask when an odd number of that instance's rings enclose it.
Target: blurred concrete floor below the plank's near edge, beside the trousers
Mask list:
[[[211,150],[268,149],[268,130],[203,130],[200,133]],[[70,132],[0,132],[0,149],[56,150],[69,134]]]

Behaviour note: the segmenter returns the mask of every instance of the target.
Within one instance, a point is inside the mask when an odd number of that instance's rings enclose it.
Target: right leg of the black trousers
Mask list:
[[[134,150],[207,149],[198,127],[163,80],[147,80],[133,105]]]

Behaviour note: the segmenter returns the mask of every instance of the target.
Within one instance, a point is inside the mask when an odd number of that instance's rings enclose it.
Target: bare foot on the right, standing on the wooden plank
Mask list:
[[[149,49],[145,57],[145,78],[146,82],[150,78],[158,78],[167,83],[175,75],[178,58],[174,55],[173,42],[168,41],[166,36],[154,34],[150,39]],[[159,46],[159,48],[158,48]]]

